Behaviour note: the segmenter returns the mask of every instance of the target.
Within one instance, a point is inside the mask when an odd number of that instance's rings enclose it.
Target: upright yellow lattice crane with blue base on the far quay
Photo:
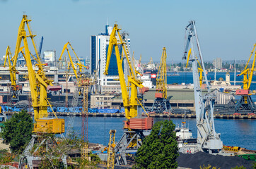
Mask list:
[[[163,47],[161,63],[159,65],[156,77],[155,101],[153,102],[153,106],[151,108],[151,111],[156,113],[170,113],[170,98],[172,96],[167,96],[166,58],[166,49]]]

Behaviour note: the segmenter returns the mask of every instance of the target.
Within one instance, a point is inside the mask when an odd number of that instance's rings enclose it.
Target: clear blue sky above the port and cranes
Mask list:
[[[256,42],[256,1],[117,1],[117,0],[0,0],[0,56],[14,53],[23,12],[32,19],[37,46],[55,49],[57,58],[66,42],[78,56],[90,58],[90,36],[117,22],[129,32],[135,58],[160,61],[163,46],[168,62],[182,58],[185,26],[195,20],[204,61],[247,60]],[[131,53],[132,53],[131,51]]]

